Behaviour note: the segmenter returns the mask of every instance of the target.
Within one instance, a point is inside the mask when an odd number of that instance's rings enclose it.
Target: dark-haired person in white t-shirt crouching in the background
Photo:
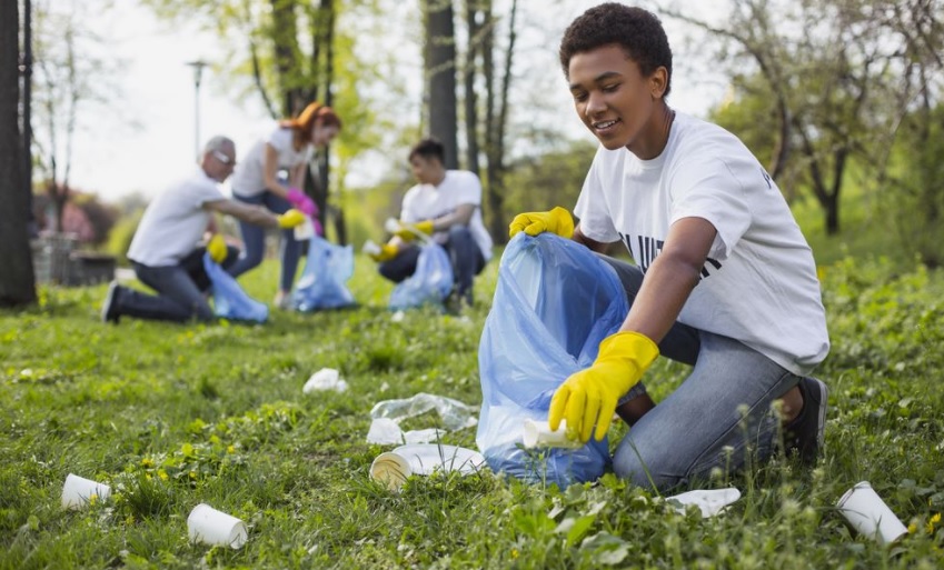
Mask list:
[[[400,227],[371,257],[380,274],[399,283],[416,271],[417,238],[429,236],[449,253],[455,288],[447,304],[471,306],[473,279],[491,259],[491,237],[481,220],[481,184],[469,171],[448,170],[445,149],[434,138],[416,143],[409,163],[417,183],[404,196]]]

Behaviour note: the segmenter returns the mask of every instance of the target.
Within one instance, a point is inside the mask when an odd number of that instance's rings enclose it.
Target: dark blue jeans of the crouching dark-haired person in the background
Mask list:
[[[485,269],[485,257],[481,254],[478,243],[475,242],[475,238],[467,227],[453,226],[449,228],[449,238],[443,247],[453,263],[456,292],[471,303],[473,278]],[[394,259],[380,263],[380,274],[395,283],[399,283],[414,274],[417,259],[419,259],[419,247],[407,247]]]

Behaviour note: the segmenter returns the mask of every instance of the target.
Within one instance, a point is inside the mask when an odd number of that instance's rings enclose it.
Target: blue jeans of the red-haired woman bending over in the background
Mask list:
[[[232,197],[240,202],[265,206],[274,213],[285,213],[291,208],[288,200],[276,196],[269,190],[257,196],[245,197],[233,194]],[[228,269],[229,274],[232,277],[239,277],[250,269],[256,268],[262,262],[262,257],[266,253],[266,228],[240,221],[239,230],[242,232],[242,243],[246,251],[239,258],[239,261]],[[279,287],[282,291],[291,291],[291,286],[295,282],[295,273],[298,270],[298,260],[301,257],[301,242],[295,239],[294,231],[281,231],[280,257],[282,267]]]

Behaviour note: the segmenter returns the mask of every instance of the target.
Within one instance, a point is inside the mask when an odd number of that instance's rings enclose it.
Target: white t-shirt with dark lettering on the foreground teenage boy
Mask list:
[[[707,220],[717,236],[678,320],[737,339],[796,374],[826,358],[813,252],[777,186],[721,127],[677,113],[653,160],[600,147],[575,214],[586,237],[622,241],[644,272],[672,223]]]

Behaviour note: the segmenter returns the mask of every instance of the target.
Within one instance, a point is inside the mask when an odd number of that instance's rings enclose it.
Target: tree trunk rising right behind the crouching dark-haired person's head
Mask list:
[[[446,150],[446,168],[456,169],[456,33],[451,0],[425,0],[426,7],[426,81],[429,92],[429,134],[439,139]]]

